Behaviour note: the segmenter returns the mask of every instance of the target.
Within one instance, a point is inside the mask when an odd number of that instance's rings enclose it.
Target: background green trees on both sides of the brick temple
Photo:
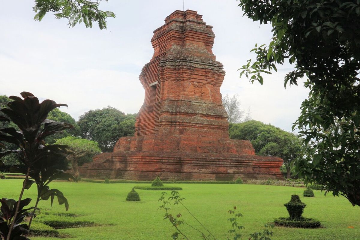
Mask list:
[[[1,95],[0,107],[6,107],[9,101],[7,96]],[[290,178],[293,162],[300,158],[300,150],[302,150],[302,144],[297,135],[271,124],[251,120],[250,111],[245,113],[240,108],[237,95],[232,97],[225,95],[222,101],[230,123],[229,137],[251,141],[257,155],[282,158],[287,178]],[[89,110],[76,122],[70,114],[55,108],[49,112],[48,119],[70,123],[74,128],[46,137],[45,142],[70,147],[74,154],[68,159],[68,167],[73,169],[75,176],[78,177],[77,166],[91,162],[95,154],[111,152],[120,137],[134,136],[136,115],[125,114],[108,106],[103,109]],[[2,124],[14,125],[12,122]],[[17,157],[13,154],[4,157],[3,161],[8,166],[19,164]]]

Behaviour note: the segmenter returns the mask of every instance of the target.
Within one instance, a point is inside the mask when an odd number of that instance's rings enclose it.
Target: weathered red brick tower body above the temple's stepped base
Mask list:
[[[194,136],[199,129],[207,136],[227,134],[220,94],[225,72],[211,51],[212,27],[201,17],[175,11],[154,31],[154,55],[140,74],[145,100],[136,136],[159,131]]]

